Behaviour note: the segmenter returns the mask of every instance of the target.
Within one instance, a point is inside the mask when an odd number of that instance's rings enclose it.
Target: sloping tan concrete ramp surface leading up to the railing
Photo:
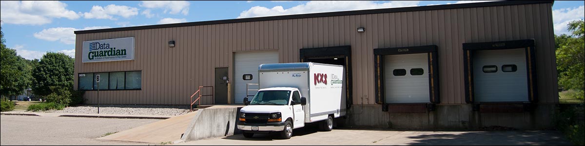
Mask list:
[[[144,126],[121,131],[98,140],[149,142],[160,144],[161,142],[173,142],[181,139],[185,129],[192,123],[198,111],[171,117]]]

